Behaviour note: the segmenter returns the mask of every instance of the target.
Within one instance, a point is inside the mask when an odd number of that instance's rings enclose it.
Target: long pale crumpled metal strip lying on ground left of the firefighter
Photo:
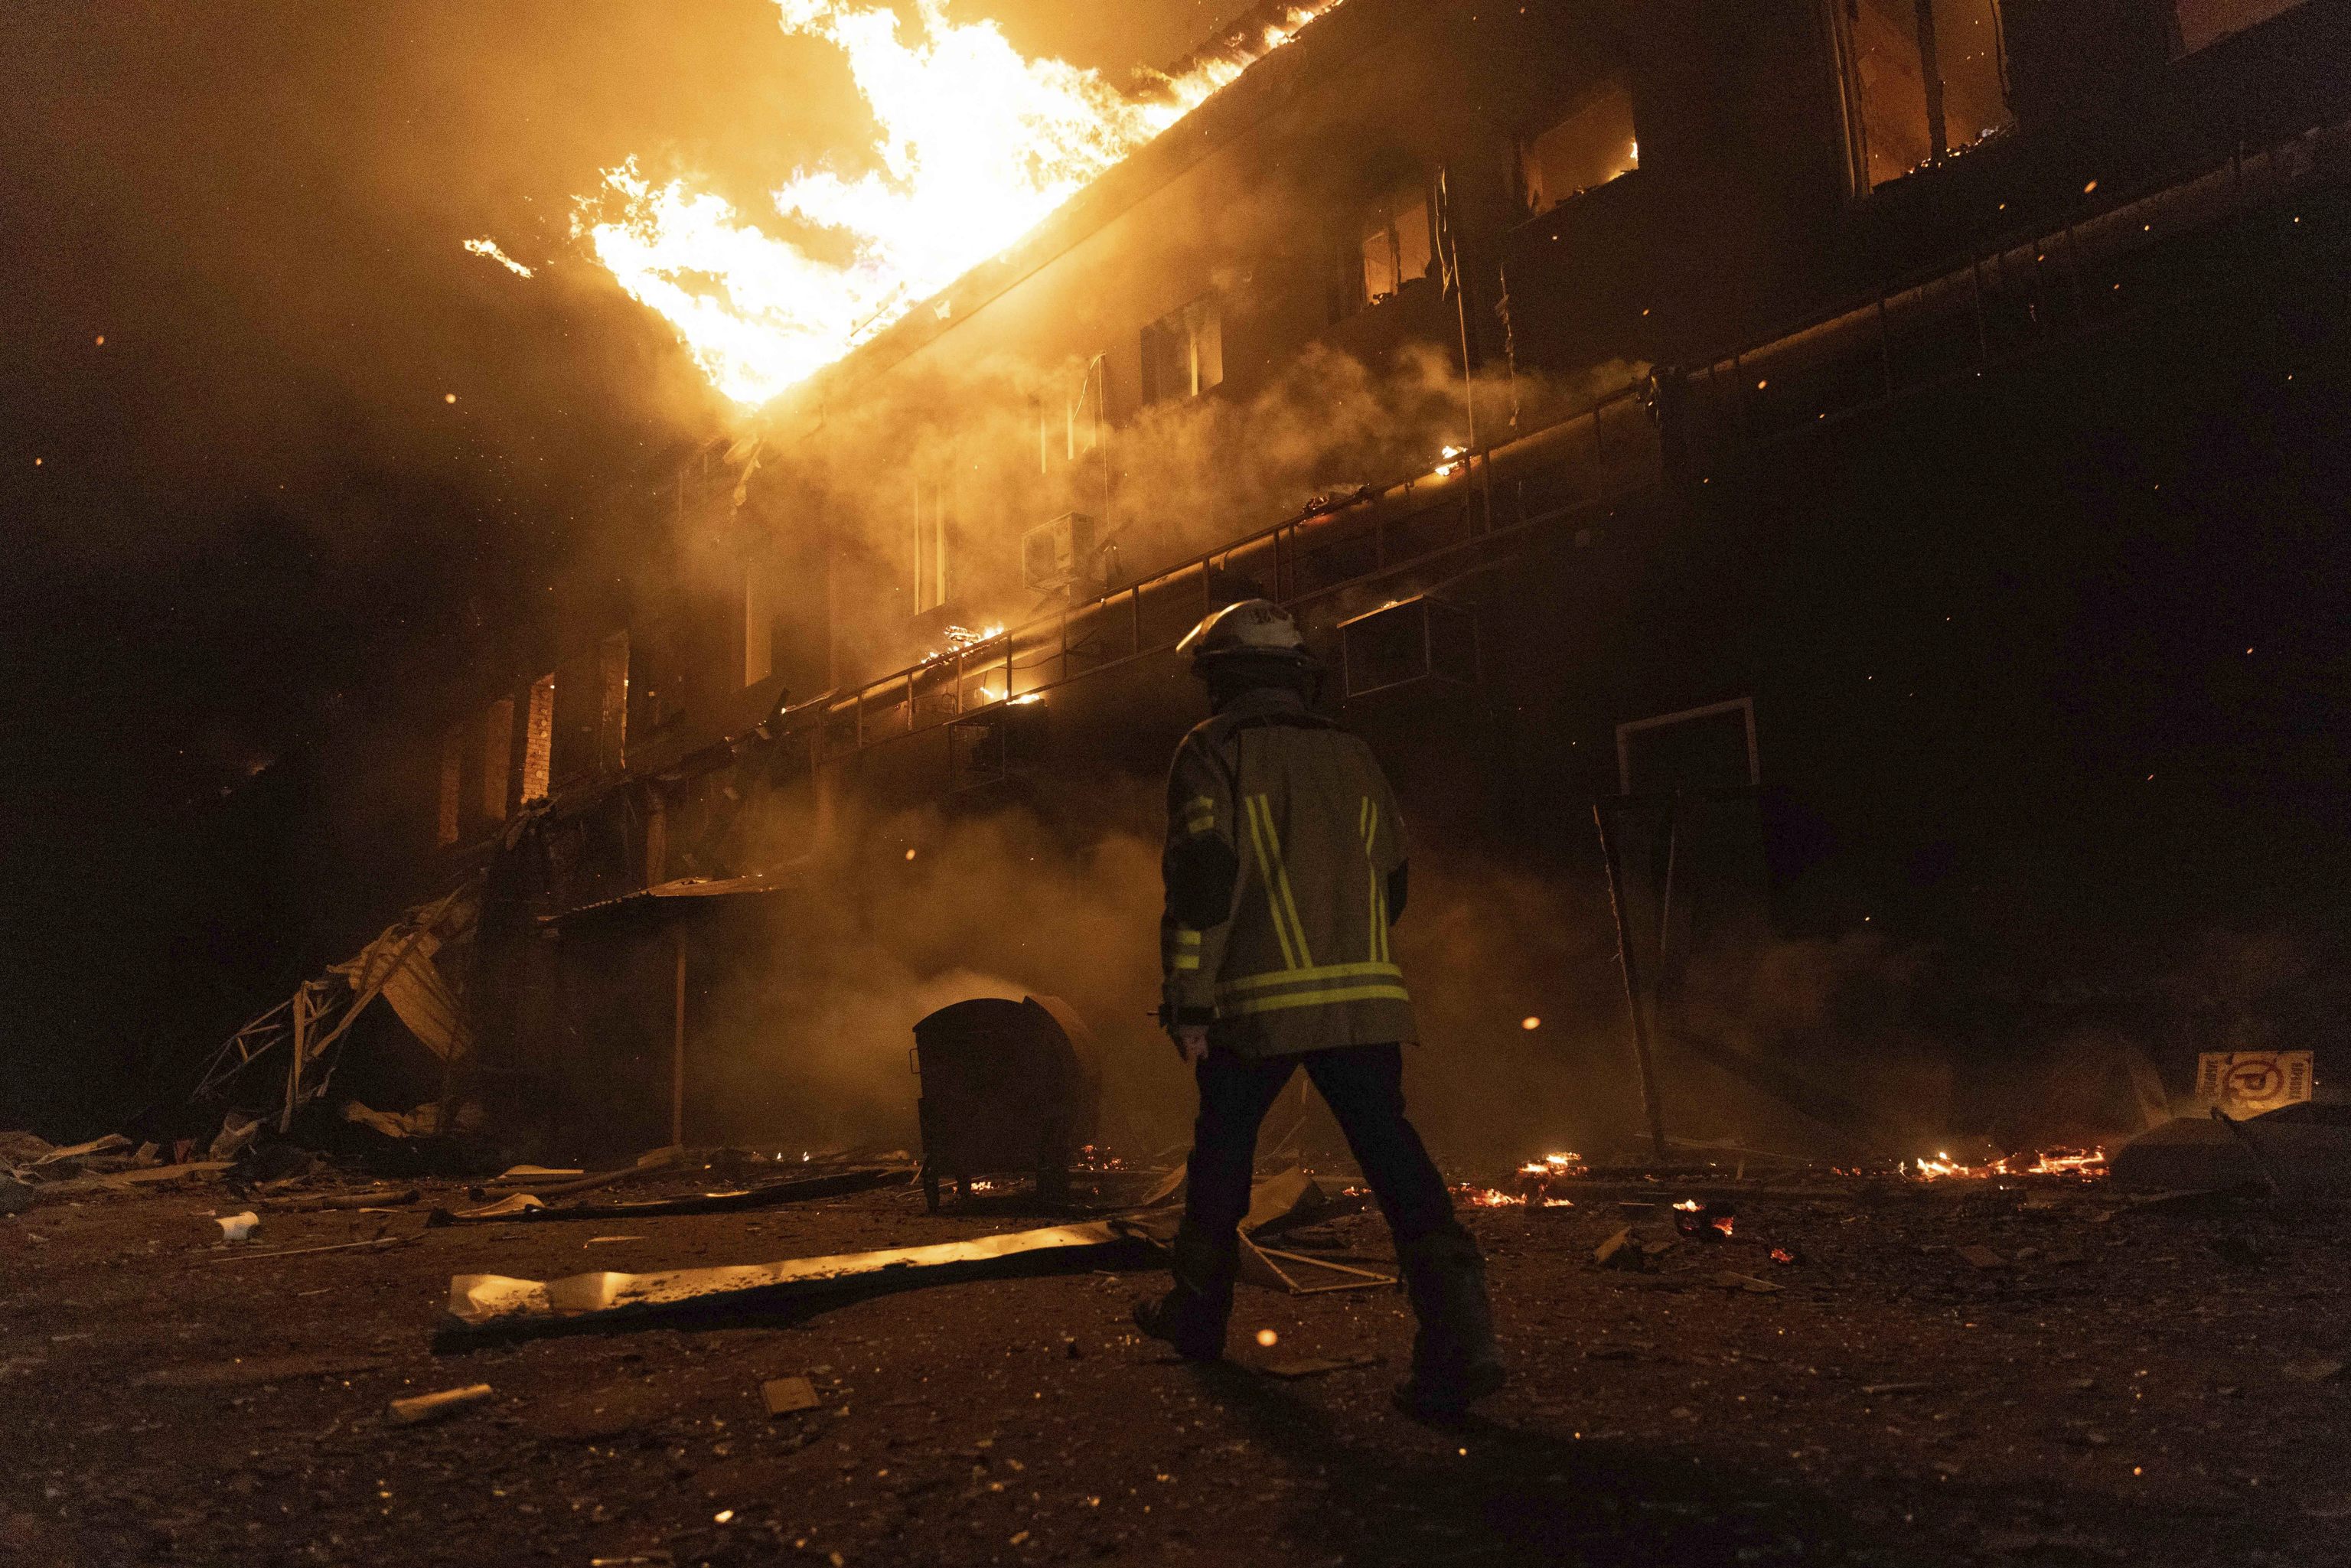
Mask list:
[[[574,1274],[569,1279],[505,1279],[458,1274],[449,1281],[449,1326],[456,1331],[529,1331],[600,1316],[651,1314],[668,1307],[731,1300],[745,1307],[818,1295],[872,1284],[893,1272],[926,1272],[936,1284],[976,1274],[1011,1274],[1039,1262],[1063,1265],[1086,1251],[1140,1255],[1150,1244],[1119,1220],[1053,1225],[973,1241],[900,1246],[839,1258],[790,1258],[719,1269],[670,1269],[665,1274]]]

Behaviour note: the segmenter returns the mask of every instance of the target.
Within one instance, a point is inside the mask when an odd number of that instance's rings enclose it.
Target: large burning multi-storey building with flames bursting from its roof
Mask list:
[[[2346,45],[2337,0],[1270,5],[802,181],[849,263],[616,172],[588,244],[743,423],[447,670],[451,1093],[903,1124],[912,1020],[1032,990],[1166,1128],[1121,1046],[1171,651],[1255,592],[1415,818],[1401,957],[1488,1063],[1418,1086],[1439,1143],[1850,1143],[2020,1110],[1954,1063],[2168,1065],[2130,997],[2226,931],[2318,973],[2344,870]],[[2339,1001],[2212,985],[2222,1034]]]

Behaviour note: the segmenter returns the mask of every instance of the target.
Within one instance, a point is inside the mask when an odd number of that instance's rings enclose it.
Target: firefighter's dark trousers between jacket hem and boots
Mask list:
[[[1298,1067],[1307,1070],[1331,1114],[1338,1117],[1354,1161],[1364,1166],[1396,1246],[1439,1232],[1460,1232],[1453,1194],[1446,1192],[1420,1133],[1404,1119],[1404,1051],[1399,1046],[1345,1046],[1305,1056],[1246,1058],[1208,1051],[1199,1074],[1199,1119],[1192,1124],[1192,1185],[1185,1218],[1215,1241],[1232,1237],[1248,1213],[1248,1185],[1258,1159],[1258,1126]]]

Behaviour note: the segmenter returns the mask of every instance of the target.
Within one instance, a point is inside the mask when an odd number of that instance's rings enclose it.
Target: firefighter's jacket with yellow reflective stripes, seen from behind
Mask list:
[[[1389,950],[1404,818],[1371,748],[1251,691],[1176,750],[1159,922],[1166,1018],[1293,1056],[1415,1039]]]

